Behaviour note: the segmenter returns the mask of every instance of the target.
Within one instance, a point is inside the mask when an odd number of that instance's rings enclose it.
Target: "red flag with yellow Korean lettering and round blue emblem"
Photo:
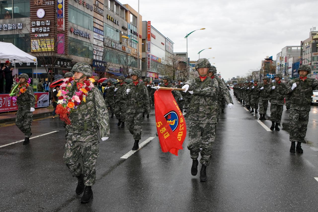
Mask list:
[[[187,134],[187,126],[171,90],[155,92],[156,126],[162,152],[178,156]]]

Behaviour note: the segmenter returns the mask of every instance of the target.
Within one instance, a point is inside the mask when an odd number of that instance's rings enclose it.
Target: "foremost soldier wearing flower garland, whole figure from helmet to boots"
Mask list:
[[[80,201],[87,203],[93,198],[92,186],[95,183],[95,166],[99,156],[98,131],[102,141],[109,138],[109,117],[105,101],[99,89],[93,85],[90,65],[84,62],[76,63],[71,71],[74,78],[69,78],[70,81],[62,84],[58,94],[58,103],[64,104],[65,112],[70,113],[63,158],[73,177],[78,179],[75,193],[79,195],[84,191]],[[69,92],[63,92],[67,89]],[[60,111],[60,117],[61,114],[66,115],[63,111]]]

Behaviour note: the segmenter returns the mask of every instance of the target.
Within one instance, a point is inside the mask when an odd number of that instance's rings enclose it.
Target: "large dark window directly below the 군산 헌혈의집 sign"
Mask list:
[[[93,58],[93,46],[91,43],[78,40],[72,37],[68,37],[68,39],[69,54],[79,57]]]

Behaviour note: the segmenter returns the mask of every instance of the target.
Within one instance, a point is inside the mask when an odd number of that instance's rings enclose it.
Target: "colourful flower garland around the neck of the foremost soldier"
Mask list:
[[[94,88],[93,78],[88,78],[84,80],[83,83],[76,83],[74,77],[64,79],[62,85],[60,85],[60,90],[56,96],[58,96],[58,105],[56,106],[55,112],[59,114],[60,119],[62,119],[66,124],[71,124],[69,116],[74,112],[82,102],[86,102],[86,96],[88,92]],[[77,89],[73,96],[67,95],[72,88],[76,86]]]

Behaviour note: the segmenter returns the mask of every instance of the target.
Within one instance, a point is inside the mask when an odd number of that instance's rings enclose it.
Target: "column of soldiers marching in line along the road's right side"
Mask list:
[[[264,77],[263,83],[258,83],[257,79],[249,82],[242,82],[234,85],[233,91],[236,98],[251,113],[258,113],[259,120],[266,120],[268,102],[270,105],[270,129],[279,131],[283,106],[289,110],[289,140],[291,141],[291,153],[303,153],[301,143],[306,143],[305,136],[309,120],[311,96],[313,90],[318,89],[318,81],[308,78],[311,73],[308,65],[301,65],[298,69],[299,78],[284,83],[281,74],[275,74],[274,80]],[[297,142],[297,146],[295,146]]]

